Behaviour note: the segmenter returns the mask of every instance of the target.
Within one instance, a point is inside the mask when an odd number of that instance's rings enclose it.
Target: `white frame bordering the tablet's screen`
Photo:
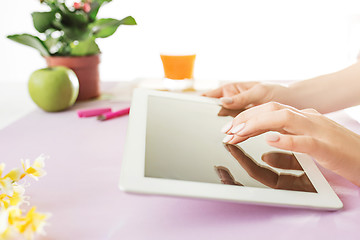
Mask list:
[[[184,99],[218,104],[217,99],[170,93],[148,89],[135,89],[132,98],[129,125],[122,160],[119,187],[126,192],[172,195],[253,203],[272,206],[338,210],[342,202],[308,155],[294,153],[317,193],[276,190],[266,188],[224,187],[222,184],[181,181],[145,177],[145,143],[147,100],[149,96]]]

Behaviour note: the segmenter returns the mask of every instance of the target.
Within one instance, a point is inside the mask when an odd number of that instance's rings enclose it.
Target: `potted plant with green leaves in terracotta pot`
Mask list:
[[[66,66],[79,79],[78,100],[100,95],[100,49],[97,38],[115,33],[120,25],[136,25],[133,17],[117,20],[97,18],[103,4],[111,0],[40,0],[49,7],[47,12],[31,14],[39,36],[15,34],[7,36],[18,43],[37,49],[46,59],[48,67]]]

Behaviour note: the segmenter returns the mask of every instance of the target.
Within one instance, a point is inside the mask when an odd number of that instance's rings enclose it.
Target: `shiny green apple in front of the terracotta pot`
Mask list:
[[[69,68],[43,68],[31,74],[28,89],[36,105],[47,112],[57,112],[75,103],[79,81]]]

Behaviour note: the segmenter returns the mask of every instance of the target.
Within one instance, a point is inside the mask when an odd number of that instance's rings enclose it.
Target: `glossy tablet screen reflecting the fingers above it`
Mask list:
[[[220,129],[238,112],[159,96],[148,96],[147,112],[145,177],[316,192],[296,157],[263,135],[222,142]]]

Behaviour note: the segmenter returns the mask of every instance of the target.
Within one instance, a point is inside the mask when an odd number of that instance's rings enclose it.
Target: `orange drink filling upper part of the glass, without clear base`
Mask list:
[[[195,54],[193,55],[164,55],[161,61],[164,66],[165,78],[172,80],[193,79]]]

